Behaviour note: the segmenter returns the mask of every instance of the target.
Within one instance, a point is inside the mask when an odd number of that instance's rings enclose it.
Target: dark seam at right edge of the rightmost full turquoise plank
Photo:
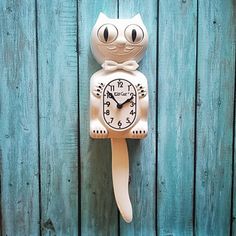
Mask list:
[[[230,235],[233,236],[233,222],[234,222],[234,164],[235,164],[235,105],[236,105],[236,50],[235,50],[235,61],[234,61],[235,73],[234,73],[234,102],[233,102],[233,139],[232,139],[232,179],[231,179],[231,211],[230,211]]]

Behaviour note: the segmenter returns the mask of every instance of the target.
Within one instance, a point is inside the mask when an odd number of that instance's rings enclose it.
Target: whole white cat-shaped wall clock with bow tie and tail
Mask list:
[[[90,79],[90,136],[111,139],[114,195],[127,223],[133,213],[126,139],[142,139],[148,132],[147,79],[137,70],[147,43],[139,14],[111,19],[100,13],[91,33],[91,51],[102,69]]]

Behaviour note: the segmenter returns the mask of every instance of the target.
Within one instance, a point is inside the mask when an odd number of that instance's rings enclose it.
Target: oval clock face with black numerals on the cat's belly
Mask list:
[[[103,118],[115,130],[130,127],[137,113],[137,92],[125,79],[110,81],[103,91]]]

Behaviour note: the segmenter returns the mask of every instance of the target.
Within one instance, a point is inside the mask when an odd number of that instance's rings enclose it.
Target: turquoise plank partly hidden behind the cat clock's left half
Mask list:
[[[115,0],[79,3],[79,104],[81,154],[81,234],[117,235],[118,213],[111,177],[109,140],[89,138],[89,81],[101,67],[90,52],[90,33],[100,11],[117,17]]]

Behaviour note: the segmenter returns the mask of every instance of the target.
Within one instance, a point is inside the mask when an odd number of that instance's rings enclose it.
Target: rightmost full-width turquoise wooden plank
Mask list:
[[[229,235],[235,73],[234,0],[199,1],[196,234]]]

